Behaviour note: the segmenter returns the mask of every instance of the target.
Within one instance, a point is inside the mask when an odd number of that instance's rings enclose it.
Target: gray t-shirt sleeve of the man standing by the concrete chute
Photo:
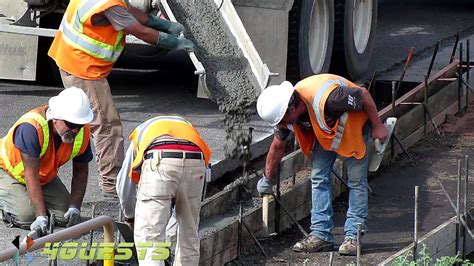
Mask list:
[[[121,6],[112,6],[104,12],[92,16],[92,25],[112,25],[116,31],[126,29],[135,22],[137,22],[137,19]]]

